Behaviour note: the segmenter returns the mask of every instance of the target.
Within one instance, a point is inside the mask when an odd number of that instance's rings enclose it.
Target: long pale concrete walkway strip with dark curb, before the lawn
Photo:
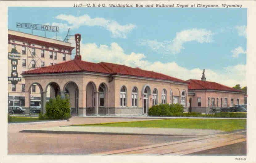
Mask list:
[[[43,129],[22,130],[26,133],[84,133],[84,134],[118,134],[118,135],[168,135],[168,136],[205,136],[220,133],[211,129],[178,128],[140,128],[140,127],[98,127],[98,126],[64,126]]]

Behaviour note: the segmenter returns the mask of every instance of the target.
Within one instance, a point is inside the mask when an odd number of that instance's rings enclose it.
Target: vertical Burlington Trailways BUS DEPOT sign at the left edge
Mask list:
[[[11,82],[12,84],[17,84],[18,82],[21,82],[21,78],[18,77],[17,72],[18,60],[20,60],[20,53],[18,53],[17,50],[12,49],[12,51],[8,53],[8,59],[11,60],[11,76],[8,77],[8,82]]]

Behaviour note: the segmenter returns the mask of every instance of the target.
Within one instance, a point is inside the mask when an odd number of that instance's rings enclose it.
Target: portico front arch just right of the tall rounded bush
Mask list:
[[[78,115],[79,90],[75,82],[68,82],[64,86],[65,95],[69,98],[71,114]]]

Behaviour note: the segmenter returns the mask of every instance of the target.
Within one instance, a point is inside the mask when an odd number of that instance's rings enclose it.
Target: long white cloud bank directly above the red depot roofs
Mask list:
[[[183,80],[201,79],[202,69],[187,69],[179,66],[176,62],[150,62],[144,54],[134,53],[126,54],[122,47],[113,42],[110,46],[95,43],[81,44],[82,59],[89,62],[111,62],[125,64],[131,67],[140,67],[144,70],[150,70],[170,75]],[[205,70],[207,81],[218,82],[228,86],[236,84],[246,85],[246,65],[236,65],[225,67],[222,70]]]

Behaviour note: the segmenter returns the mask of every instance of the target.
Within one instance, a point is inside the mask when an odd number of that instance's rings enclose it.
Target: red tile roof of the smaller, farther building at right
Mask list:
[[[213,89],[213,90],[232,91],[232,92],[244,92],[242,90],[231,88],[216,82],[201,81],[196,79],[189,79],[187,81],[189,82],[188,90]]]

